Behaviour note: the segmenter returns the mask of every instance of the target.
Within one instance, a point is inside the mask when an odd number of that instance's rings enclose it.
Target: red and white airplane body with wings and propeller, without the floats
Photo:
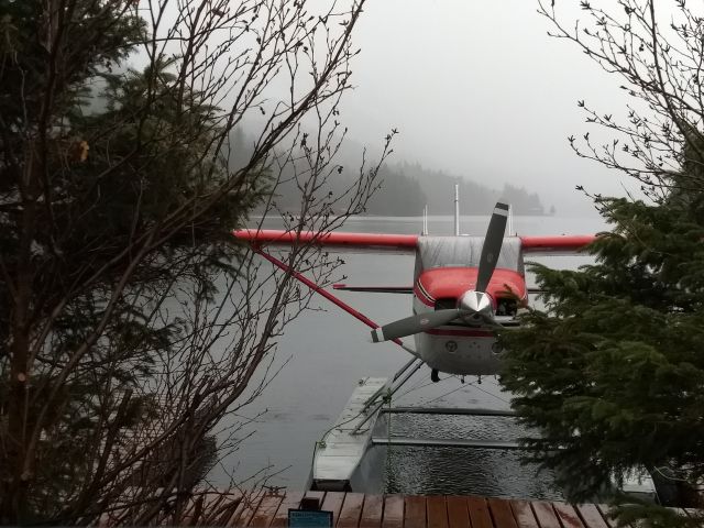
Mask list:
[[[296,233],[249,229],[234,231],[233,235],[250,241],[257,253],[373,328],[374,342],[393,340],[402,344],[399,338],[414,336],[415,351],[404,348],[426,362],[432,370],[432,381],[438,381],[438,372],[459,375],[498,373],[501,350],[496,329],[498,326],[517,326],[518,309],[528,304],[524,254],[574,253],[595,238],[506,237],[508,211],[507,205],[496,204],[485,237]],[[455,233],[459,231],[458,218],[455,212]],[[340,290],[413,294],[414,315],[378,326],[263,250],[270,244],[294,243],[414,252],[413,286],[333,285]]]

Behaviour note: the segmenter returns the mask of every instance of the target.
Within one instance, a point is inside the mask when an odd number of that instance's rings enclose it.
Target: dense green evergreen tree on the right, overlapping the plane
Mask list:
[[[704,201],[601,205],[612,231],[588,249],[596,264],[534,265],[547,309],[503,336],[502,383],[540,433],[529,457],[573,501],[638,468],[704,476]]]

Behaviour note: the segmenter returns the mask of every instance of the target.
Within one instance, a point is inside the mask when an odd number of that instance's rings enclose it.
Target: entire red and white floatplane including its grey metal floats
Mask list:
[[[378,468],[375,446],[432,446],[484,449],[519,449],[517,442],[471,439],[419,439],[384,435],[384,417],[391,414],[513,416],[509,409],[388,407],[392,396],[424,364],[431,380],[439,373],[464,376],[496,375],[502,350],[497,329],[519,326],[519,310],[528,306],[524,255],[576,254],[595,235],[507,235],[509,206],[497,202],[484,237],[460,234],[459,197],[455,187],[454,234],[428,233],[427,216],[421,234],[344,233],[280,230],[237,230],[232,234],[252,244],[253,251],[369,326],[375,343],[391,341],[413,354],[392,377],[360,381],[344,410],[322,441],[318,442],[311,471],[312,490],[370,490],[370,475]],[[510,232],[510,230],[509,230]],[[292,270],[266,251],[267,246],[312,243],[326,249],[386,251],[415,254],[410,286],[334,284],[333,290],[413,295],[413,315],[378,324],[338,296]],[[415,348],[400,339],[413,336]],[[480,377],[481,380],[481,377]]]

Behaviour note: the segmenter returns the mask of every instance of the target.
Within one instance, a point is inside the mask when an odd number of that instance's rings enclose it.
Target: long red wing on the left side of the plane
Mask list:
[[[246,240],[255,244],[292,245],[294,243],[314,243],[338,248],[389,249],[411,252],[418,242],[417,234],[384,234],[384,233],[320,233],[316,231],[280,231],[273,229],[240,229],[232,231],[239,240]]]

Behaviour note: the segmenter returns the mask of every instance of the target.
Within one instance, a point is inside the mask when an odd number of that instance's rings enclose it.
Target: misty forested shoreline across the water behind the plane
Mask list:
[[[253,144],[243,128],[233,132],[233,143],[238,145],[238,155],[246,157],[249,145]],[[361,163],[359,150],[342,145],[338,156],[339,178],[331,182],[324,191],[340,193],[359,175],[355,173]],[[288,174],[293,173],[289,167]],[[510,204],[516,215],[551,215],[554,207],[543,206],[537,193],[524,187],[505,184],[499,189],[477,183],[491,179],[491,174],[476,174],[473,179],[424,167],[419,163],[397,161],[381,166],[377,175],[378,189],[369,200],[364,213],[387,216],[419,216],[425,206],[429,215],[452,215],[454,211],[454,185],[460,186],[460,210],[463,215],[487,215],[496,200]],[[276,189],[273,200],[282,212],[295,213],[300,208],[300,188],[295,178],[284,178]]]

